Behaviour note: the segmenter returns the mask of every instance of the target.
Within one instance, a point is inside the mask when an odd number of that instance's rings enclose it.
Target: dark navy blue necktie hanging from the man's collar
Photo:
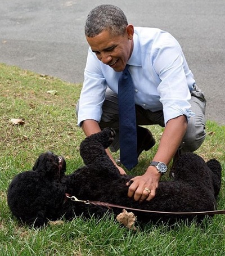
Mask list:
[[[131,170],[137,165],[137,127],[134,88],[129,65],[118,82],[120,162]]]

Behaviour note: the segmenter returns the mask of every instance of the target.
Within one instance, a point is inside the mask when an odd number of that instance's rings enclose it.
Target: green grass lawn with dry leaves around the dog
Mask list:
[[[224,255],[225,215],[206,219],[202,227],[180,223],[170,229],[149,224],[136,232],[121,227],[109,215],[89,221],[76,218],[42,229],[16,221],[7,206],[8,185],[17,173],[31,169],[41,152],[65,156],[68,173],[83,165],[79,145],[84,134],[75,115],[81,87],[0,64],[0,255]],[[17,118],[24,124],[13,125],[11,119]],[[225,127],[208,120],[206,129],[206,140],[196,153],[205,160],[221,161],[218,209],[225,209]],[[158,143],[163,129],[154,126],[151,131]],[[145,172],[156,148],[143,152],[132,174]]]

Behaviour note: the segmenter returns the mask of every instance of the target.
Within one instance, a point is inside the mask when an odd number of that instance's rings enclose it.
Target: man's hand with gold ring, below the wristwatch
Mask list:
[[[134,197],[136,201],[150,201],[156,192],[159,185],[161,174],[155,167],[150,166],[147,168],[146,173],[142,176],[137,176],[131,179],[132,183],[127,183],[129,186],[128,196]]]

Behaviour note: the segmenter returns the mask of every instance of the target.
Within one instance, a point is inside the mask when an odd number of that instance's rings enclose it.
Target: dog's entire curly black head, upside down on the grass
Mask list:
[[[65,203],[66,162],[52,152],[41,154],[33,170],[17,174],[8,187],[8,206],[26,224],[42,226],[59,217]]]

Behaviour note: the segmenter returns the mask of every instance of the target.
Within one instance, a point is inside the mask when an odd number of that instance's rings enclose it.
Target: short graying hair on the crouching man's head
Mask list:
[[[113,35],[122,35],[127,25],[127,17],[119,7],[100,5],[89,12],[84,32],[86,37],[95,37],[104,30]]]

